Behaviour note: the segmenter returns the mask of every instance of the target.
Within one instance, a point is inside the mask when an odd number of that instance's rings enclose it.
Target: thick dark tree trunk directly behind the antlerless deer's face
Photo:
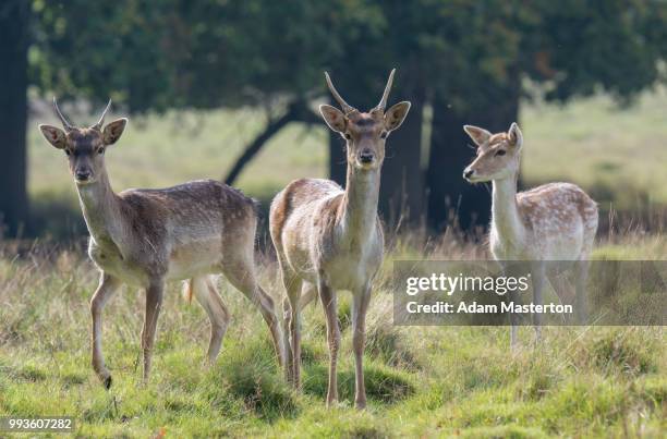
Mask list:
[[[489,224],[490,183],[473,185],[462,176],[463,169],[475,155],[466,147],[472,145],[472,141],[463,125],[480,125],[492,133],[507,131],[519,113],[519,81],[492,90],[488,97],[489,103],[471,114],[457,113],[456,109],[448,108],[446,99],[436,98],[434,101],[426,185],[429,191],[429,224],[436,230],[457,225],[471,231]]]

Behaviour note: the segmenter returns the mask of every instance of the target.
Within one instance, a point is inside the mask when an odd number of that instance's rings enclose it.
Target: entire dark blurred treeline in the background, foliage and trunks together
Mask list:
[[[605,90],[629,101],[660,81],[666,9],[655,0],[9,0],[0,5],[10,66],[0,73],[0,133],[11,142],[0,178],[12,190],[0,211],[10,233],[25,221],[28,84],[49,97],[112,97],[132,112],[266,108],[265,130],[230,170],[232,182],[280,129],[318,121],[311,105],[329,98],[323,70],[367,109],[396,66],[390,103],[413,107],[388,143],[380,210],[392,221],[403,209],[411,220],[427,214],[436,227],[453,210],[464,228],[486,224],[488,195],[460,176],[472,158],[461,125],[507,129],[527,80],[551,100]],[[330,138],[330,174],[342,181],[343,143]]]

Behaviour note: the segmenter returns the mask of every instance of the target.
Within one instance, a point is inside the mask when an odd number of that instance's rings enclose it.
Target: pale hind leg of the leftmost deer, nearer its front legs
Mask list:
[[[222,297],[218,293],[210,277],[195,278],[192,280],[197,302],[210,320],[210,341],[208,343],[207,357],[214,363],[220,353],[220,345],[229,326],[229,309],[225,306]]]

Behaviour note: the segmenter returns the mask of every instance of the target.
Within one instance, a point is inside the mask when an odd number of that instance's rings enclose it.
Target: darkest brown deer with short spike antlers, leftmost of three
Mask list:
[[[259,309],[282,365],[280,324],[255,271],[255,202],[214,180],[114,193],[105,156],[123,134],[128,119],[104,125],[110,107],[111,100],[97,123],[80,127],[65,119],[53,98],[63,129],[39,125],[49,144],[66,155],[89,232],[88,256],[100,271],[90,300],[92,365],[104,387],[109,389],[112,379],[102,355],[102,310],[123,284],[146,294],[141,334],[144,383],[150,374],[165,285],[170,281],[184,280],[185,293],[191,300],[194,295],[206,312],[210,320],[207,361],[216,361],[230,320],[215,284],[214,276],[219,273]]]

